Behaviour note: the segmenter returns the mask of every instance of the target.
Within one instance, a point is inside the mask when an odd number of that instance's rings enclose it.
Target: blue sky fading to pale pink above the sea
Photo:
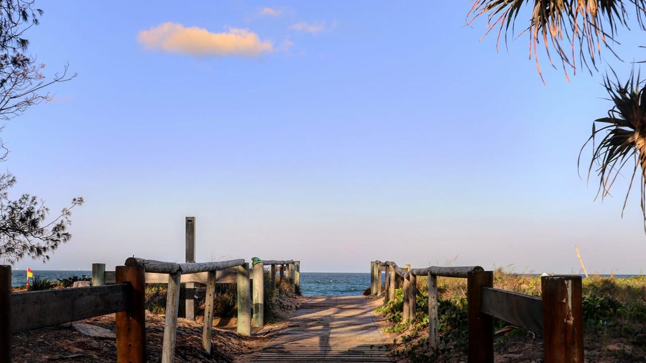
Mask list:
[[[638,194],[621,218],[626,180],[601,203],[577,172],[601,72],[543,63],[543,85],[527,37],[497,52],[469,1],[37,6],[30,53],[78,76],[7,123],[3,166],[13,196],[85,204],[50,262],[16,268],[183,262],[185,216],[198,261],[579,273],[578,245],[589,272],[646,267]],[[599,68],[625,75],[643,32],[618,37]]]

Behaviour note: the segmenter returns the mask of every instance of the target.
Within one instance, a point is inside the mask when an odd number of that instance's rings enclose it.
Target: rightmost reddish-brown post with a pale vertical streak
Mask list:
[[[545,363],[583,362],[581,276],[543,276]]]

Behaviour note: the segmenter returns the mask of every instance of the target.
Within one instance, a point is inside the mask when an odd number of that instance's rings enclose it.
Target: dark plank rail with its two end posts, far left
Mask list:
[[[0,363],[12,361],[13,333],[116,313],[117,362],[145,362],[143,268],[117,266],[116,285],[11,293],[0,265]]]

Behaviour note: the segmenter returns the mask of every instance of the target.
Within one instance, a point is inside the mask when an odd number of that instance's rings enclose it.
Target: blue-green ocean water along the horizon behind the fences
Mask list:
[[[26,271],[14,270],[12,285],[25,284]],[[34,276],[43,280],[54,280],[72,276],[92,276],[92,271],[48,271],[34,270]],[[610,276],[610,275],[601,275]],[[636,275],[614,275],[616,278],[628,278]],[[370,273],[300,273],[300,290],[304,296],[319,295],[361,295],[370,287]]]

